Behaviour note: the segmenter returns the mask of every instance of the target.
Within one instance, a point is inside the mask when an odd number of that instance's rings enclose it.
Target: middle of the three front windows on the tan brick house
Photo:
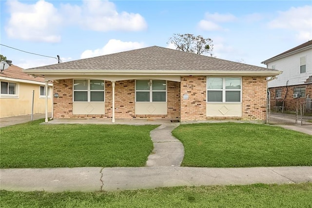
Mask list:
[[[165,80],[136,80],[137,102],[166,102]]]

